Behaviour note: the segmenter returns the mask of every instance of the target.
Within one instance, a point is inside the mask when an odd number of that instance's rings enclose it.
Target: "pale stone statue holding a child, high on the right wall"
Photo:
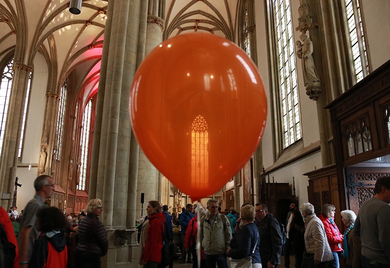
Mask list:
[[[312,56],[313,42],[305,34],[301,35],[300,39],[303,43],[296,41],[295,44],[297,45],[297,56],[302,58],[305,87],[319,84],[320,79],[318,78],[317,72],[315,71],[314,60]]]

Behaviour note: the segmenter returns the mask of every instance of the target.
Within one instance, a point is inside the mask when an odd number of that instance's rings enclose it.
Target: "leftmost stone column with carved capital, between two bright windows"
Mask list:
[[[1,149],[0,167],[0,191],[1,207],[8,211],[12,206],[13,190],[15,183],[16,169],[18,166],[18,153],[23,120],[24,104],[26,102],[27,83],[30,72],[33,68],[20,62],[13,66],[14,75],[12,78],[11,96],[8,104],[7,121],[3,147]]]

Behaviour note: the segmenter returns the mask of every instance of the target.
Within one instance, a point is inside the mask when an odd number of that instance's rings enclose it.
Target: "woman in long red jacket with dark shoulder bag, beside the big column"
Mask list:
[[[141,264],[144,265],[144,268],[156,268],[161,262],[165,215],[161,212],[158,201],[149,201],[146,212],[148,213],[149,227]]]

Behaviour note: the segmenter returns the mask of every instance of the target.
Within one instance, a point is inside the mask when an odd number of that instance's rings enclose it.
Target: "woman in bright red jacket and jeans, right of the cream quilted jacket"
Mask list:
[[[344,241],[344,236],[340,233],[334,222],[335,207],[331,204],[325,204],[322,206],[320,220],[324,224],[326,236],[328,238],[329,246],[333,254],[333,260],[329,262],[329,267],[340,268],[339,259],[343,249],[341,243]]]

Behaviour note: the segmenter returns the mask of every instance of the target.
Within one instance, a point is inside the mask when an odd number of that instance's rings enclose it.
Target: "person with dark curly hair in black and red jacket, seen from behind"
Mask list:
[[[65,215],[55,207],[43,208],[37,212],[35,225],[43,235],[35,241],[28,268],[65,268],[68,261]]]

